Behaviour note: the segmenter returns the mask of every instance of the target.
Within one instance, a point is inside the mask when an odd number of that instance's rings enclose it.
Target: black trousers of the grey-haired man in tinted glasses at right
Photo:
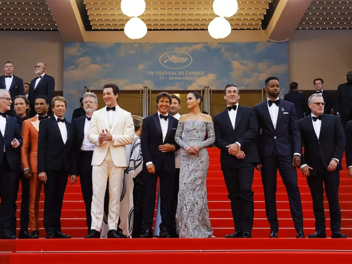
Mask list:
[[[315,176],[307,177],[310,194],[312,194],[315,230],[325,232],[325,214],[323,201],[323,182],[329,203],[330,228],[332,232],[340,232],[341,210],[339,205],[340,171],[327,171],[321,164]]]

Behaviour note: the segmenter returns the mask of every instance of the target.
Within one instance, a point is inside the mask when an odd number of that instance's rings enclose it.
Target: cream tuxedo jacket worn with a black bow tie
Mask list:
[[[110,148],[110,153],[114,165],[126,167],[126,145],[132,144],[134,138],[134,125],[130,112],[125,111],[118,105],[116,106],[115,117],[111,127],[109,126],[106,107],[93,112],[88,130],[88,140],[95,145],[92,165],[100,165]],[[105,128],[113,137],[112,141],[105,141],[99,145],[99,133]]]

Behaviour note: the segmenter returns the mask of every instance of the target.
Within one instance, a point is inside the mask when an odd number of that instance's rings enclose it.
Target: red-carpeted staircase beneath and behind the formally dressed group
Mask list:
[[[270,262],[284,260],[286,263],[298,261],[330,262],[335,257],[351,259],[352,239],[295,239],[295,230],[289,210],[288,197],[278,174],[277,209],[279,218],[279,239],[268,239],[269,223],[265,216],[263,186],[260,172],[255,170],[254,191],[254,226],[252,239],[224,239],[225,234],[233,232],[233,220],[227,189],[220,169],[220,151],[208,148],[210,165],[207,180],[208,205],[211,224],[217,239],[81,239],[87,234],[86,215],[81,194],[80,181],[65,191],[61,225],[62,232],[80,239],[36,239],[36,240],[3,240],[0,241],[0,263],[96,263],[116,258],[134,262],[168,262],[193,263],[219,262],[219,260],[244,260],[245,263]],[[339,198],[341,207],[341,232],[352,238],[352,179],[348,177],[345,159],[342,160],[343,170],[340,172]],[[69,184],[69,183],[68,183]],[[314,215],[312,199],[306,178],[298,171],[298,186],[300,187],[304,232],[308,237],[314,233]],[[20,189],[21,191],[21,189]],[[20,191],[17,206],[20,205]],[[327,235],[329,211],[325,197],[325,215],[327,218]],[[44,194],[40,199],[40,236],[45,237],[43,227]],[[19,218],[19,210],[17,210]],[[19,227],[19,219],[17,220]],[[19,231],[19,228],[18,228]],[[297,255],[299,251],[299,255]],[[10,253],[12,252],[12,253]],[[226,252],[226,253],[225,253]],[[250,254],[249,254],[250,252]],[[300,256],[297,258],[297,256]],[[62,259],[64,257],[64,259]],[[180,259],[182,258],[182,260]],[[144,259],[144,260],[142,260]],[[265,261],[266,263],[266,261]]]

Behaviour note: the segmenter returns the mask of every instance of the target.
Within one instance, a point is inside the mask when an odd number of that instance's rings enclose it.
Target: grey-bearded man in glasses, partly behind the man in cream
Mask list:
[[[74,147],[75,147],[75,163],[77,164],[78,175],[81,180],[81,189],[84,205],[86,205],[86,219],[88,234],[92,225],[92,215],[90,209],[92,206],[93,183],[92,183],[92,157],[94,144],[90,143],[88,136],[88,128],[93,112],[98,108],[98,98],[94,93],[85,93],[83,98],[83,108],[85,115],[72,120],[74,129]]]

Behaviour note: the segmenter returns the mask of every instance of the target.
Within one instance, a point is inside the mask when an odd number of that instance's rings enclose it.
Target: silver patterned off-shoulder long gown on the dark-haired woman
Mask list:
[[[180,238],[212,237],[213,228],[210,225],[206,187],[209,156],[205,147],[215,142],[213,122],[179,121],[175,141],[182,147],[176,211],[177,234]],[[196,155],[188,154],[187,146],[199,146],[200,151]]]

